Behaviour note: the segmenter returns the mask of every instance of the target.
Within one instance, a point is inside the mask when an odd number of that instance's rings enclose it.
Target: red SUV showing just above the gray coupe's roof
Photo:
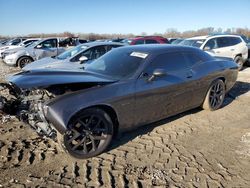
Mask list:
[[[123,43],[127,43],[130,45],[138,45],[138,44],[169,44],[168,39],[161,36],[146,36],[146,37],[136,37],[130,39],[124,39]]]

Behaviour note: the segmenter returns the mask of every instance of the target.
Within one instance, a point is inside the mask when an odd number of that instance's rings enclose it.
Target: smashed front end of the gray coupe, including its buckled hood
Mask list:
[[[52,99],[115,82],[78,69],[34,69],[16,73],[7,80],[0,83],[0,114],[15,116],[39,135],[52,139],[60,131],[46,118],[47,104]]]

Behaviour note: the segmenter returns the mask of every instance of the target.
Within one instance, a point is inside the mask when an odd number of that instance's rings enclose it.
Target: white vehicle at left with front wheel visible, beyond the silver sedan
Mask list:
[[[64,51],[64,48],[58,46],[58,38],[47,38],[34,42],[26,48],[9,50],[7,54],[3,54],[3,61],[7,65],[22,68],[35,60],[57,56]]]

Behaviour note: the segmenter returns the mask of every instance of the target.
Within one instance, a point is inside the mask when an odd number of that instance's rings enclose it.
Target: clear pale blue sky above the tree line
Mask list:
[[[250,28],[250,0],[0,0],[0,35]]]

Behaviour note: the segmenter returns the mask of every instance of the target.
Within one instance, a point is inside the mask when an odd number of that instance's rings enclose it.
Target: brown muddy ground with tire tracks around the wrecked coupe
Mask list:
[[[0,62],[2,79],[15,71]],[[0,187],[250,187],[250,68],[223,108],[125,133],[89,160],[12,118],[0,124],[0,172]]]

